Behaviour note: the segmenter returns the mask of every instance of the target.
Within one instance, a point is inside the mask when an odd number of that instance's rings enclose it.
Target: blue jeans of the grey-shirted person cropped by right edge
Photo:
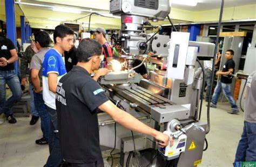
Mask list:
[[[244,130],[238,143],[234,166],[240,162],[256,161],[256,124],[244,121]]]

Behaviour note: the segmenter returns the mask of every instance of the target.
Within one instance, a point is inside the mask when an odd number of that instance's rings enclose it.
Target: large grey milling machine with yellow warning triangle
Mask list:
[[[171,38],[159,31],[145,34],[143,27],[150,26],[149,20],[168,16],[169,1],[112,0],[110,13],[122,18],[119,40],[127,66],[124,71],[116,70],[100,78],[99,84],[113,103],[173,137],[174,144],[158,148],[153,137],[133,133],[117,125],[109,115],[98,113],[100,145],[113,148],[111,154],[120,150],[120,166],[131,166],[132,159],[136,159],[137,166],[197,166],[203,156],[207,123],[198,120],[203,81],[196,63],[198,59],[210,60],[215,45],[189,41],[190,34],[183,32],[172,32]],[[134,72],[149,53],[167,62],[166,70],[158,71],[163,78],[161,84],[142,79]],[[142,63],[132,67],[139,56],[143,57]]]

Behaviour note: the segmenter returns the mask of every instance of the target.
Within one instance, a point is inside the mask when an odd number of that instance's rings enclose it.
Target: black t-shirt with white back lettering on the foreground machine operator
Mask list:
[[[93,163],[102,158],[97,107],[109,100],[82,67],[73,66],[57,86],[60,148],[65,161]]]

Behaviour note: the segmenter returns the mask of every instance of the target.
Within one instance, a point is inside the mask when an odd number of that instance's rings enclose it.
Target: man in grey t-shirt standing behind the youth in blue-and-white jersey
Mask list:
[[[46,105],[44,104],[43,94],[42,94],[42,63],[44,55],[48,52],[50,43],[49,34],[45,31],[39,31],[35,33],[35,45],[38,49],[38,53],[33,55],[30,62],[30,77],[33,85],[33,95],[35,100],[35,107],[41,118],[41,129],[43,132],[43,137],[36,140],[36,144],[43,145],[47,144],[49,140],[50,133],[50,117],[47,112]]]

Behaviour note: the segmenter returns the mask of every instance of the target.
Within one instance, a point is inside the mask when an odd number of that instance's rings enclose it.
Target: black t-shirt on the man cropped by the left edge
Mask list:
[[[0,37],[0,57],[5,59],[11,58],[10,50],[15,49],[14,43],[8,38]],[[14,63],[7,64],[5,67],[0,67],[0,71],[14,70]]]

